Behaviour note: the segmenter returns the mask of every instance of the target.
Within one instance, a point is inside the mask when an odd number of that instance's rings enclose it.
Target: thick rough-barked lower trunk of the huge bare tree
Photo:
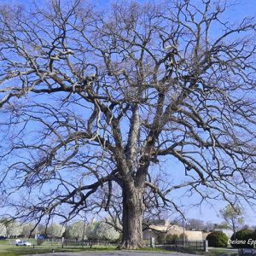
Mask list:
[[[123,188],[123,241],[121,248],[143,247],[143,189]]]

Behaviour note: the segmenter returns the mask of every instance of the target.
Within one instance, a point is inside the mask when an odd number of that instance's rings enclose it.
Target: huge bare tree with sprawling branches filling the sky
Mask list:
[[[225,9],[2,5],[1,189],[12,214],[40,222],[108,210],[118,186],[121,247],[137,248],[145,206],[177,207],[174,189],[253,204],[255,24],[231,24]],[[155,178],[167,158],[185,182]]]

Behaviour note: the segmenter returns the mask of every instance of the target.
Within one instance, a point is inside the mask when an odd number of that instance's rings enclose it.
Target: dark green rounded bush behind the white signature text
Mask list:
[[[256,240],[256,230],[248,230],[243,229],[236,232],[236,238],[235,234],[231,236],[231,241],[236,241],[235,243],[231,243],[232,247],[236,248],[253,248],[252,245],[248,245],[248,240],[252,239],[253,241]],[[241,243],[240,243],[241,241]]]

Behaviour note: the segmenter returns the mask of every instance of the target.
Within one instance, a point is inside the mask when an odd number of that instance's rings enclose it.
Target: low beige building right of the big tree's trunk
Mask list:
[[[147,230],[143,231],[143,239],[148,240],[151,237],[157,238],[159,234],[166,233],[166,235],[183,235],[183,227],[170,224],[166,219],[151,222],[152,224],[145,224],[148,227]],[[203,240],[202,231],[190,231],[184,230],[185,236],[189,241],[201,241]]]

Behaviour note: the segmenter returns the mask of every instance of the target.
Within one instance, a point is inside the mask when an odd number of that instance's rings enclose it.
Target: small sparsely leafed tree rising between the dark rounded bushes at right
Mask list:
[[[230,230],[233,230],[236,239],[236,231],[244,224],[241,207],[228,205],[219,211],[219,217],[224,219],[225,224],[227,224]]]

